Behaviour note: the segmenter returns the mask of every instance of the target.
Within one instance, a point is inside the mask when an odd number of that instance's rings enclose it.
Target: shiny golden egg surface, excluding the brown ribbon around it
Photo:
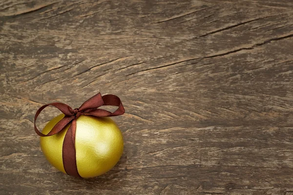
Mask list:
[[[49,121],[42,133],[48,134],[64,115]],[[58,170],[63,167],[62,146],[67,125],[61,132],[41,137],[41,148],[47,160]],[[95,177],[105,174],[119,161],[123,153],[121,131],[110,117],[80,116],[76,120],[75,149],[77,170],[80,176]]]

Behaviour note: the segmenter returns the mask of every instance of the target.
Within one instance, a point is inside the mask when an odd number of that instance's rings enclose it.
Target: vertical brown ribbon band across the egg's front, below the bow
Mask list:
[[[70,176],[81,177],[77,170],[75,150],[76,119],[72,120],[68,128],[62,147],[62,159],[65,172]]]

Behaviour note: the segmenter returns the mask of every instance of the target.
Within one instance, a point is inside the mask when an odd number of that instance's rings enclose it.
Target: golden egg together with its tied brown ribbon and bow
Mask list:
[[[36,120],[47,106],[58,108],[63,115],[49,121],[41,133]],[[109,112],[101,106],[118,108]],[[43,154],[53,166],[70,176],[93,177],[115,166],[123,153],[122,134],[108,117],[124,113],[120,98],[98,93],[75,109],[60,102],[43,105],[35,115],[34,126],[41,136]]]

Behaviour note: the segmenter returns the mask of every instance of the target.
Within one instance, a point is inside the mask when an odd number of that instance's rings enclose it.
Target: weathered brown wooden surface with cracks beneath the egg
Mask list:
[[[1,195],[293,195],[292,0],[1,0],[0,44]],[[97,92],[124,154],[66,176],[35,112]]]

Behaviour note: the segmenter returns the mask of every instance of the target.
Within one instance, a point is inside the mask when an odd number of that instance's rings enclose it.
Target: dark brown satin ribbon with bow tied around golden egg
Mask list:
[[[47,106],[54,106],[58,108],[65,116],[61,119],[53,129],[47,134],[42,134],[37,126],[36,120],[42,110]],[[99,109],[100,106],[118,106],[117,110],[113,113]],[[58,134],[63,128],[71,122],[69,129],[67,130],[62,147],[62,159],[65,172],[70,176],[81,177],[77,170],[76,165],[76,152],[75,152],[75,132],[76,132],[76,119],[81,115],[89,115],[95,117],[113,117],[123,115],[125,109],[122,105],[120,98],[114,95],[101,96],[100,93],[86,100],[81,107],[72,109],[70,106],[60,102],[53,102],[43,105],[35,115],[35,131],[39,136],[47,137]]]

